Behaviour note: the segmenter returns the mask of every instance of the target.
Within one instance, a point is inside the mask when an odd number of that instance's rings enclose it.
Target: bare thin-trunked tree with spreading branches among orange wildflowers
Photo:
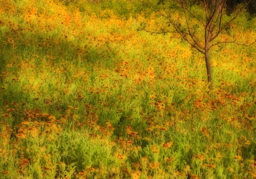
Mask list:
[[[153,0],[154,1],[154,0]],[[195,5],[193,0],[158,0],[158,5],[154,5],[152,0],[141,0],[141,2],[155,13],[163,16],[168,23],[174,27],[174,31],[163,30],[159,32],[151,32],[152,34],[163,34],[167,32],[178,33],[193,48],[204,54],[205,65],[207,69],[207,77],[209,90],[212,89],[212,72],[210,63],[210,49],[221,43],[237,43],[234,41],[221,41],[218,36],[224,32],[230,23],[240,15],[250,0],[237,6],[237,9],[227,16],[225,14],[225,4],[227,0],[202,0],[199,5],[202,12],[193,8]],[[173,16],[178,13],[178,16]],[[245,44],[240,44],[245,45]],[[251,44],[250,44],[251,45]],[[245,45],[249,46],[249,45]]]

